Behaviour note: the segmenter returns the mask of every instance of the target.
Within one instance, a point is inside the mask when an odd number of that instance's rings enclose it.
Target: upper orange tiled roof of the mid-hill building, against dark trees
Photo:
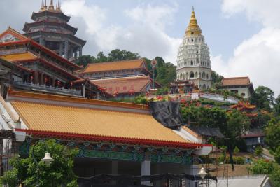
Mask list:
[[[87,67],[85,67],[83,74],[98,72],[98,71],[136,69],[136,68],[143,67],[143,63],[144,63],[143,59],[124,60],[124,61],[116,61],[116,62],[91,63],[91,64],[87,64]]]

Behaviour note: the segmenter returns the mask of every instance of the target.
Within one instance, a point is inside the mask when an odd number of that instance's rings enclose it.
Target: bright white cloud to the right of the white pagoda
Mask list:
[[[224,0],[222,10],[227,16],[244,11],[248,20],[260,22],[257,34],[235,48],[228,61],[221,55],[212,57],[212,67],[224,76],[249,76],[253,85],[265,85],[280,93],[280,1]]]

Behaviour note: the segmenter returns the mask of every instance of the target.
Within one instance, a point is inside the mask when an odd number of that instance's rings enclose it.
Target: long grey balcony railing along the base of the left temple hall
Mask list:
[[[75,96],[82,96],[82,90],[75,90],[75,89],[66,89],[66,88],[58,88],[48,85],[39,85],[39,84],[33,84],[33,83],[24,83],[24,82],[14,82],[13,84],[15,87],[22,88],[24,90],[31,89],[34,91],[43,91],[43,92],[51,92],[51,93],[57,93],[62,95],[75,95]]]

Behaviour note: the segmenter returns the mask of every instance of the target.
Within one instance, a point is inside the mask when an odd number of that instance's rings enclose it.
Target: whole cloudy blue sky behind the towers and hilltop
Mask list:
[[[22,32],[40,6],[41,0],[1,0],[0,30],[10,25]],[[255,87],[267,85],[279,94],[279,0],[62,0],[77,36],[87,40],[84,55],[120,48],[174,64],[192,6],[212,69],[223,76],[249,76]]]

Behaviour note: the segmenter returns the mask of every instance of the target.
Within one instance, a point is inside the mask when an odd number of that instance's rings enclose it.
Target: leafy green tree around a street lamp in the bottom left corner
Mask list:
[[[77,176],[73,173],[73,159],[78,154],[76,149],[69,149],[62,144],[57,144],[54,139],[45,141],[48,152],[54,159],[50,166],[45,165],[41,158],[45,155],[45,144],[38,142],[34,148],[34,157],[38,160],[38,167],[29,151],[28,158],[15,158],[11,160],[12,170],[1,176],[2,185],[14,187],[22,183],[24,186],[53,187],[68,186],[78,187]],[[30,150],[32,150],[31,146]],[[38,178],[37,178],[38,176]]]

